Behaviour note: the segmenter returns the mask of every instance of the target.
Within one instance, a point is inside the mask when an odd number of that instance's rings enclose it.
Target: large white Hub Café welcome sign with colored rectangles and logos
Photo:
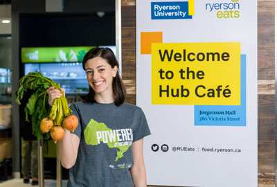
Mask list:
[[[257,2],[136,1],[148,185],[258,184]]]

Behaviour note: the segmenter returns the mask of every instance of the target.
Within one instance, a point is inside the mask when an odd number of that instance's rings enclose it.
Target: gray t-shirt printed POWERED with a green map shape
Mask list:
[[[78,102],[71,109],[79,120],[74,134],[80,145],[67,186],[133,187],[132,142],[150,134],[141,108]]]

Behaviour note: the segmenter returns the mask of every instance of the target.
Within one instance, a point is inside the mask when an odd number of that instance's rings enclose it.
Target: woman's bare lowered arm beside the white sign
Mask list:
[[[134,166],[131,169],[135,187],[146,187],[146,172],[143,160],[143,139],[133,142]]]

